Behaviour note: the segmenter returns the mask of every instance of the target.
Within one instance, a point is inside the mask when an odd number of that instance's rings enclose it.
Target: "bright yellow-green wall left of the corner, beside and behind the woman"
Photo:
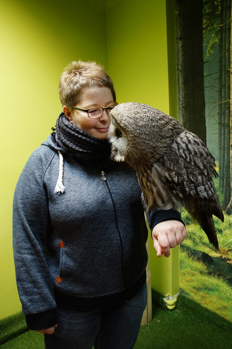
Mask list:
[[[0,318],[21,310],[11,246],[13,193],[25,162],[62,111],[57,93],[62,70],[78,59],[95,60],[108,69],[105,10],[94,4],[0,3]]]

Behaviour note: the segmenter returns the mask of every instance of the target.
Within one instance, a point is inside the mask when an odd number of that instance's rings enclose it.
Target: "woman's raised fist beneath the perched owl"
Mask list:
[[[155,225],[152,231],[157,256],[170,256],[170,248],[176,247],[186,238],[186,229],[179,221],[164,221]]]

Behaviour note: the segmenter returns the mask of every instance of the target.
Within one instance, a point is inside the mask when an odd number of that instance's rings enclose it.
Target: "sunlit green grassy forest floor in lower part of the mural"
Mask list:
[[[215,187],[222,202],[218,178]],[[232,321],[232,216],[224,214],[224,223],[214,217],[217,251],[187,211],[182,210],[181,215],[187,238],[180,250],[180,287],[201,305]]]

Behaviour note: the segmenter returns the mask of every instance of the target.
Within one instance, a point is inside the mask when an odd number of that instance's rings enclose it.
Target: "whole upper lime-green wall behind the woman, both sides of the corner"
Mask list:
[[[113,78],[118,102],[146,103],[175,116],[175,54],[167,46],[175,1],[167,4],[168,27],[165,0],[106,0],[106,12],[103,0],[1,0],[0,318],[21,310],[11,247],[13,193],[61,111],[63,68],[72,60],[97,61]]]

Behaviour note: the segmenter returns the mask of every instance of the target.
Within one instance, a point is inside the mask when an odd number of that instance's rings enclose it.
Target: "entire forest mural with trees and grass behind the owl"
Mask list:
[[[231,0],[177,0],[179,121],[216,159],[224,211],[215,217],[219,251],[185,210],[181,291],[232,321],[232,30]]]

